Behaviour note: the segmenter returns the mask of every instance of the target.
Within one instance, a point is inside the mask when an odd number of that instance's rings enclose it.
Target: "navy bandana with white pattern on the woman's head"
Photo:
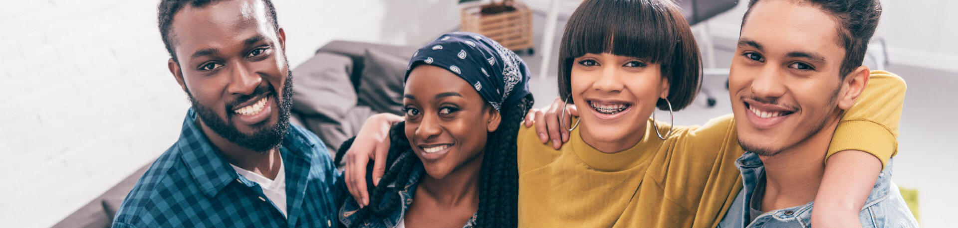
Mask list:
[[[502,104],[518,101],[530,93],[526,63],[515,52],[481,34],[466,31],[443,34],[413,53],[405,79],[419,64],[456,73],[489,101],[495,111],[500,111]]]

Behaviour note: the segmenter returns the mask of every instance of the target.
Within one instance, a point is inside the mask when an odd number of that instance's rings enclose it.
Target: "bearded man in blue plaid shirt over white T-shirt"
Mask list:
[[[162,0],[158,18],[193,107],[113,226],[338,226],[344,188],[326,146],[289,124],[292,74],[272,3]]]

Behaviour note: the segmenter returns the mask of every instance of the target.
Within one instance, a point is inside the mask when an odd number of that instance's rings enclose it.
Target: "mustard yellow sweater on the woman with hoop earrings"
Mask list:
[[[897,152],[904,81],[873,72],[857,104],[839,120],[827,155],[860,150],[885,164]],[[579,130],[554,150],[535,128],[518,134],[520,227],[715,227],[741,190],[735,160],[744,152],[731,114],[705,125],[675,127],[605,154]],[[658,123],[659,131],[669,130]]]

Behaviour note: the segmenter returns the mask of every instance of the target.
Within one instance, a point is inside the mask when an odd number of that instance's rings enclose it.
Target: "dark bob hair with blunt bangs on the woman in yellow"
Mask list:
[[[667,0],[585,0],[569,17],[559,45],[559,96],[572,91],[573,60],[608,52],[661,64],[673,110],[692,103],[702,80],[702,60],[689,23]],[[571,102],[571,101],[570,101]],[[664,99],[656,106],[669,110]]]

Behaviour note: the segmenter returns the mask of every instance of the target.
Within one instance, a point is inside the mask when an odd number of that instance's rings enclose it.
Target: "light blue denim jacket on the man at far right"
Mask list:
[[[811,227],[811,206],[814,201],[805,205],[790,207],[771,212],[765,212],[755,219],[750,219],[748,205],[752,195],[762,184],[765,173],[759,155],[747,152],[735,161],[741,171],[741,182],[744,185],[735,197],[732,206],[719,221],[719,227]],[[908,210],[904,199],[901,198],[898,186],[891,181],[892,162],[878,175],[878,181],[868,195],[864,208],[858,214],[861,226],[867,227],[918,227],[918,221]]]

